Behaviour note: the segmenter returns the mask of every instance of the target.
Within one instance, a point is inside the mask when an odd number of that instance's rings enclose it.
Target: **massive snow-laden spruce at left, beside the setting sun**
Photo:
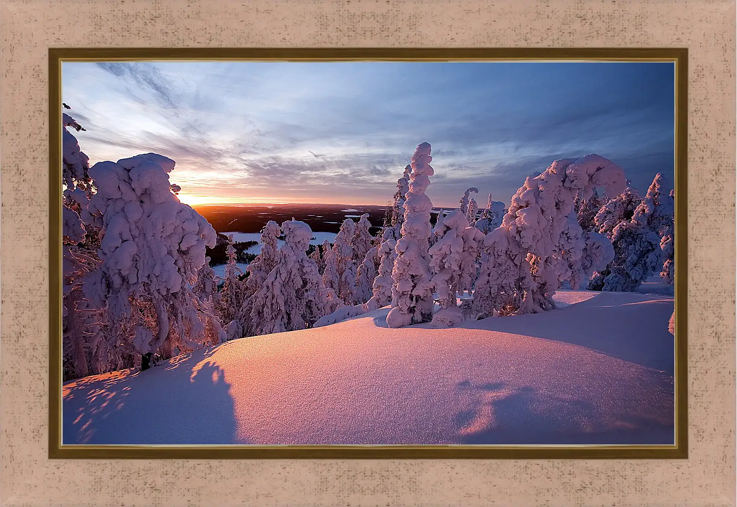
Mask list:
[[[172,194],[175,162],[155,153],[89,169],[103,210],[99,258],[85,280],[85,294],[107,308],[111,348],[171,357],[225,338],[220,323],[192,290],[214,247],[212,226]],[[146,362],[144,361],[145,368]]]

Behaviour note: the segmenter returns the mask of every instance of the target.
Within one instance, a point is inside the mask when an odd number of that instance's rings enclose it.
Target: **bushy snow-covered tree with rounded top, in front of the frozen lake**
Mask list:
[[[328,294],[318,267],[307,257],[312,230],[303,221],[282,224],[284,244],[276,266],[244,308],[251,315],[251,334],[262,335],[310,327],[328,311]]]

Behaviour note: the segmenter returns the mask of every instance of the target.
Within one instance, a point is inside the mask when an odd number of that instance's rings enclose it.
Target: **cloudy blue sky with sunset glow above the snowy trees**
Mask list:
[[[156,152],[192,205],[384,205],[417,144],[436,206],[509,198],[598,153],[646,191],[674,174],[672,63],[63,63],[90,162]]]

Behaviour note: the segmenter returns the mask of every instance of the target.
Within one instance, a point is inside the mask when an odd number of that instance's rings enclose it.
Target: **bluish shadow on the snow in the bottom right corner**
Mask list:
[[[462,387],[459,384],[459,387]],[[455,417],[461,444],[673,444],[674,426],[633,414],[597,414],[584,400],[504,383],[466,386],[478,398]]]

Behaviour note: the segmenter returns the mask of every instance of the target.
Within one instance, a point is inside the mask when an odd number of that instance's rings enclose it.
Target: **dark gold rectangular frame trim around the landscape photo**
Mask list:
[[[675,64],[674,445],[63,445],[61,63],[127,60],[601,61]],[[49,48],[49,458],[688,458],[688,49]]]

